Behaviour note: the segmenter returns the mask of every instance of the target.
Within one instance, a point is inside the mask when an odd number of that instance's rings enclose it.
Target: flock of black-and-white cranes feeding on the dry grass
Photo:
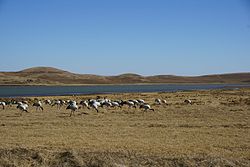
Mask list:
[[[32,104],[32,106],[36,107],[36,111],[37,110],[44,110],[43,109],[43,103],[45,105],[50,105],[51,107],[56,106],[58,110],[61,109],[61,107],[63,106],[67,106],[66,109],[71,110],[70,112],[70,116],[72,116],[72,114],[74,115],[75,111],[77,111],[78,109],[81,108],[88,108],[88,109],[94,109],[96,110],[96,112],[99,112],[99,108],[100,107],[108,107],[108,108],[122,108],[123,106],[128,106],[129,108],[137,108],[139,107],[140,109],[143,109],[144,111],[154,111],[154,109],[145,102],[145,100],[143,99],[132,99],[132,100],[110,100],[107,98],[100,98],[99,96],[96,99],[88,99],[88,100],[82,100],[80,102],[76,102],[75,100],[44,100],[43,102],[40,100],[37,100],[35,103]],[[186,99],[184,101],[184,103],[186,104],[192,104],[192,101],[189,99]],[[166,100],[162,100],[162,99],[155,99],[155,104],[161,105],[161,104],[167,104]],[[21,114],[23,112],[27,112],[28,113],[28,107],[29,107],[29,102],[28,101],[21,101],[21,102],[17,102],[17,101],[11,101],[11,102],[0,102],[0,106],[2,106],[2,109],[4,110],[6,105],[16,105],[16,108],[19,109],[21,111]]]

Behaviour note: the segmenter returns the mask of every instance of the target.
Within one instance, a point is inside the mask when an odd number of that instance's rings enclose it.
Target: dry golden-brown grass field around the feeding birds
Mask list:
[[[155,111],[0,109],[0,166],[250,166],[250,89],[105,96],[142,98]]]

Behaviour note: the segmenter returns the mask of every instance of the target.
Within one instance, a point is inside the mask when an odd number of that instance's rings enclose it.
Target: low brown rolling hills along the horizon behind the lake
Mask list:
[[[122,74],[99,76],[75,74],[52,67],[34,67],[18,72],[0,72],[0,85],[83,85],[83,84],[147,84],[147,83],[250,83],[250,73],[204,76]]]

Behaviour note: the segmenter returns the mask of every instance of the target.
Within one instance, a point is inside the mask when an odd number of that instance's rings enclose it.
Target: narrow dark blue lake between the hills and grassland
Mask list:
[[[175,92],[187,90],[236,89],[241,84],[154,84],[93,86],[0,86],[0,97],[54,96],[130,92]]]

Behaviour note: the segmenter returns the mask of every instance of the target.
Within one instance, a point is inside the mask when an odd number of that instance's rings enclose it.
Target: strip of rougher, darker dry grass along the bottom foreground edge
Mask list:
[[[41,151],[41,150],[40,150]],[[135,152],[84,152],[13,148],[0,150],[0,166],[48,167],[126,167],[126,166],[249,166],[250,159],[223,159],[198,155],[196,157],[167,157],[140,155]]]

